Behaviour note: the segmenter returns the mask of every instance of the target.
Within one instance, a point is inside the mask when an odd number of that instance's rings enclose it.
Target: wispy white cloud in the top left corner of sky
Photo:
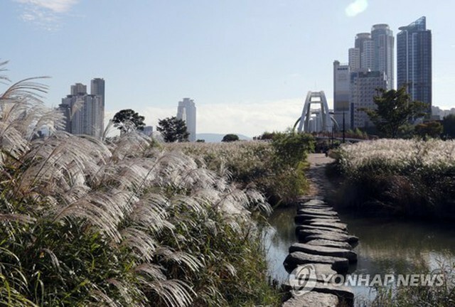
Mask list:
[[[54,31],[59,27],[59,16],[68,13],[79,0],[14,0],[23,5],[23,21],[35,23]]]

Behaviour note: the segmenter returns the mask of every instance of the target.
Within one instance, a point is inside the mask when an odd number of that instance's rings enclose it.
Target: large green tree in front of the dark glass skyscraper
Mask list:
[[[375,109],[360,108],[370,117],[378,132],[387,138],[396,138],[400,126],[412,119],[424,116],[427,104],[412,101],[406,87],[398,90],[378,89],[378,96],[373,97]]]

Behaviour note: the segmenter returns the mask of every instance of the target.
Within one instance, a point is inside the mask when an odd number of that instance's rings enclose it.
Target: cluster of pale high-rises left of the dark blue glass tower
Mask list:
[[[431,44],[429,45],[431,48]],[[363,109],[376,107],[378,88],[395,88],[395,37],[387,23],[357,33],[348,63],[333,61],[333,117],[350,129],[374,126]],[[431,110],[430,110],[431,112]],[[343,128],[346,126],[343,124]]]

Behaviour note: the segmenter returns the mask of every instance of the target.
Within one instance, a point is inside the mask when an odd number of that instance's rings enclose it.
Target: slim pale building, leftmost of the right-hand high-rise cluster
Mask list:
[[[357,48],[353,48],[357,49]],[[350,127],[350,65],[333,61],[333,112],[338,129]],[[344,118],[344,119],[343,119]]]

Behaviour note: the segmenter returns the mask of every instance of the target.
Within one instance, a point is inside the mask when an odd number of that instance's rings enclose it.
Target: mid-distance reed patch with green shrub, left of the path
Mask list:
[[[309,134],[275,133],[272,141],[228,143],[172,143],[168,150],[183,151],[196,161],[228,176],[239,188],[255,188],[272,205],[290,205],[306,193],[306,155],[314,150]]]

